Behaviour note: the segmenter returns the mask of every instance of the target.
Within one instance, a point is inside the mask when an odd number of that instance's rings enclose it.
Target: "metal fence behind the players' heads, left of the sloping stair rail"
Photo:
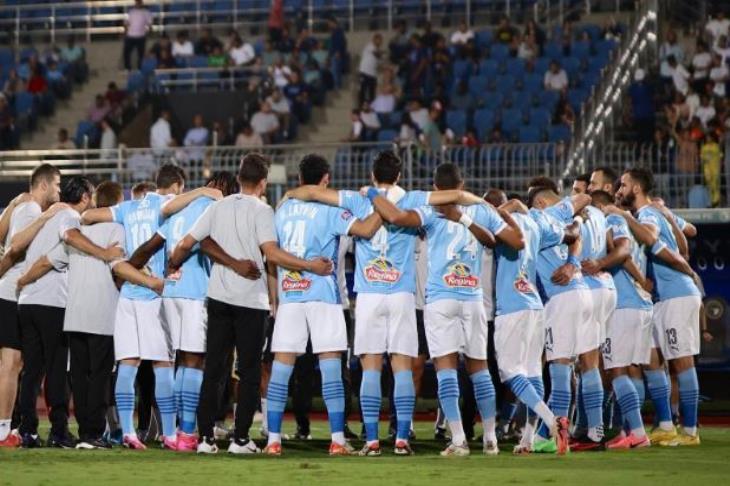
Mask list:
[[[401,183],[407,189],[431,187],[433,170],[441,162],[457,164],[467,187],[475,192],[494,186],[524,192],[531,177],[558,177],[565,170],[562,144],[448,146],[434,153],[416,145],[391,143],[270,145],[256,149],[272,162],[269,178],[272,201],[279,199],[285,187],[296,185],[299,161],[308,153],[321,154],[331,162],[335,187],[358,188],[370,184],[372,161],[381,150],[394,150],[400,155],[403,160]],[[235,172],[241,157],[249,151],[239,147],[207,147],[202,151],[202,157],[198,155],[200,149],[185,147],[2,152],[0,180],[27,178],[38,164],[49,162],[58,166],[64,175],[111,179],[129,189],[136,182],[152,179],[161,164],[173,162],[186,168],[188,184],[197,187],[216,171]]]

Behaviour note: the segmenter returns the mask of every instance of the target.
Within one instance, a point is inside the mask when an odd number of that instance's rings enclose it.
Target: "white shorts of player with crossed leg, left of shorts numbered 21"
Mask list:
[[[494,319],[494,351],[502,383],[516,375],[542,376],[544,327],[542,310],[512,312]]]

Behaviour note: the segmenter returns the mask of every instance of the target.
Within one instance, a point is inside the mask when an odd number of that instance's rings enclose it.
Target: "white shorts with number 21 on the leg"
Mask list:
[[[593,319],[590,290],[569,290],[545,305],[545,356],[572,359],[598,348],[601,330]]]

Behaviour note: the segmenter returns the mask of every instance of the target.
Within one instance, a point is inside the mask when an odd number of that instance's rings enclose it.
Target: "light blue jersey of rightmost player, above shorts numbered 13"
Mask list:
[[[639,209],[636,212],[636,219],[641,224],[652,225],[659,230],[659,239],[651,248],[651,256],[649,257],[657,299],[663,301],[675,297],[699,296],[700,291],[689,275],[678,272],[657,257],[657,254],[664,248],[679,252],[677,240],[674,238],[669,221],[658,209],[652,206],[644,206]]]

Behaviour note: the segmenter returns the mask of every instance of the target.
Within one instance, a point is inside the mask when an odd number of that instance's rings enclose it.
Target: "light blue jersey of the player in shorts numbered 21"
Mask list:
[[[563,203],[546,208],[544,211],[539,209],[530,209],[530,217],[537,222],[538,225],[550,226],[553,228],[564,227],[567,222],[573,220],[573,205],[568,203],[570,216],[567,216],[568,209]],[[588,289],[583,274],[580,270],[576,271],[573,278],[567,285],[556,285],[552,282],[551,277],[555,270],[560,268],[568,260],[568,245],[560,244],[540,250],[537,257],[537,276],[540,277],[540,283],[545,292],[545,296],[550,299],[563,292],[569,290],[585,290]]]

